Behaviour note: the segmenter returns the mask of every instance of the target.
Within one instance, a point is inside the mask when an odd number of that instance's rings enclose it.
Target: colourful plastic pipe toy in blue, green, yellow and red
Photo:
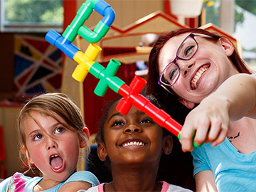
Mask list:
[[[92,14],[93,10],[101,14],[103,18],[97,24],[94,31],[90,31],[89,28],[82,25]],[[114,76],[121,65],[118,60],[111,59],[107,68],[95,62],[97,55],[99,55],[102,49],[93,43],[100,41],[106,35],[113,21],[114,10],[109,4],[102,0],[87,0],[82,4],[74,20],[65,29],[63,35],[60,36],[57,32],[50,30],[46,34],[46,41],[58,47],[65,55],[68,55],[68,57],[78,63],[72,75],[75,80],[82,82],[85,80],[87,73],[91,73],[95,78],[100,80],[95,88],[96,95],[104,96],[108,87],[122,95],[123,98],[117,105],[117,111],[127,114],[132,105],[134,105],[152,117],[161,127],[168,129],[169,132],[179,138],[182,129],[181,124],[178,124],[169,114],[160,110],[140,94],[144,85],[146,85],[146,80],[135,76],[128,86]],[[90,42],[90,46],[85,50],[85,53],[82,53],[79,48],[72,44],[77,35]],[[196,146],[194,143],[193,145]]]

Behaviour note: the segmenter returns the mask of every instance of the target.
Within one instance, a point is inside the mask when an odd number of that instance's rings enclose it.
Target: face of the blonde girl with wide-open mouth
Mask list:
[[[79,149],[85,147],[77,132],[60,124],[53,117],[36,111],[23,121],[26,156],[43,173],[44,179],[65,181],[76,171]],[[60,122],[64,120],[54,114]]]

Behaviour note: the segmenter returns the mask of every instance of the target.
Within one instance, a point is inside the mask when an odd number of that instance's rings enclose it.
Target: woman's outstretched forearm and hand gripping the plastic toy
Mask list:
[[[230,120],[256,118],[256,75],[233,75],[211,95],[203,99],[186,117],[181,132],[183,151],[193,150],[196,144],[212,142],[216,146],[228,134]]]

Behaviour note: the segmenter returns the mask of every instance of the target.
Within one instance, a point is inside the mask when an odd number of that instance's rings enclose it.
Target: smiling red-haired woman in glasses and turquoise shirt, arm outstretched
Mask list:
[[[228,38],[198,28],[161,36],[149,55],[146,93],[178,122],[186,118],[183,151],[193,150],[193,134],[196,144],[205,142],[192,151],[197,191],[256,188],[247,185],[255,185],[256,121],[247,117],[256,117],[256,82],[240,73],[250,70]]]

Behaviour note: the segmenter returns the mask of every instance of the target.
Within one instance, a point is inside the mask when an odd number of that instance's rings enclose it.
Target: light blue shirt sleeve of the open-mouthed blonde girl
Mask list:
[[[93,186],[97,186],[100,184],[100,181],[97,179],[97,177],[92,174],[90,171],[77,171],[75,174],[70,176],[64,183],[69,183],[72,181],[85,181],[92,184]]]

